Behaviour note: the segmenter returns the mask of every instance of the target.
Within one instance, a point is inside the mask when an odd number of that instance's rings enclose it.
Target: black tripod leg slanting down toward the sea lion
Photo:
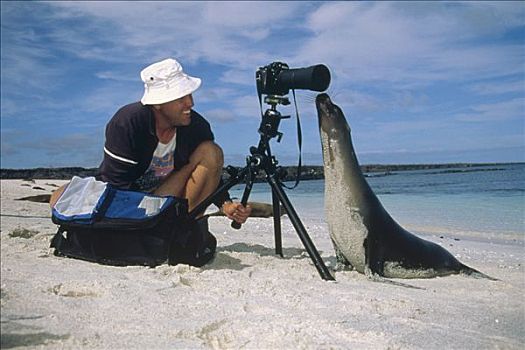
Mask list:
[[[281,201],[284,208],[286,209],[286,212],[288,213],[288,217],[292,221],[295,231],[297,231],[297,234],[299,235],[301,242],[303,242],[303,245],[306,248],[306,251],[310,255],[310,258],[312,259],[315,267],[317,268],[319,275],[321,275],[321,278],[324,280],[334,281],[335,278],[330,274],[330,271],[324,264],[323,259],[321,259],[321,256],[319,255],[317,248],[315,248],[314,243],[308,236],[306,229],[304,228],[301,220],[299,219],[299,216],[297,215],[295,209],[293,208],[292,203],[286,196],[286,193],[284,192],[280,183],[277,182],[274,175],[270,175],[268,173],[267,173],[266,179],[268,183],[270,184],[270,186],[272,187],[272,193],[275,193],[278,196],[279,200]]]

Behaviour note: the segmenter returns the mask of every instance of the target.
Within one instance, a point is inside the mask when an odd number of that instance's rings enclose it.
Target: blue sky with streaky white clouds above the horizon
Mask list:
[[[96,167],[104,127],[174,57],[227,164],[259,141],[255,71],[326,64],[362,164],[525,161],[523,2],[1,3],[1,167]],[[303,163],[316,93],[297,91]],[[293,114],[282,107],[282,114]],[[297,161],[294,120],[272,150]]]

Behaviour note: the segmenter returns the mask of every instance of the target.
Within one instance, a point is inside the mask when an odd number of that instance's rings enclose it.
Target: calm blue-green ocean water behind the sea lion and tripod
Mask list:
[[[368,175],[385,209],[409,230],[503,240],[525,236],[525,164]],[[230,194],[241,198],[243,190],[237,185]],[[301,181],[285,191],[303,221],[325,220],[324,180]],[[271,203],[270,186],[254,184],[249,200]]]

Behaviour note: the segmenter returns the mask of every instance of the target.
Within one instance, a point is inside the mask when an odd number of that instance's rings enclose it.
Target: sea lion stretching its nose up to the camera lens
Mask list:
[[[492,279],[394,221],[361,172],[341,109],[327,94],[317,96],[316,107],[326,219],[338,262],[368,276],[430,278],[464,273]]]

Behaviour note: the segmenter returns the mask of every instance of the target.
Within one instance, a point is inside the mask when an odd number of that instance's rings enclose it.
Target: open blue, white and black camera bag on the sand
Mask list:
[[[73,177],[52,209],[55,255],[109,265],[156,266],[188,239],[188,203]]]

